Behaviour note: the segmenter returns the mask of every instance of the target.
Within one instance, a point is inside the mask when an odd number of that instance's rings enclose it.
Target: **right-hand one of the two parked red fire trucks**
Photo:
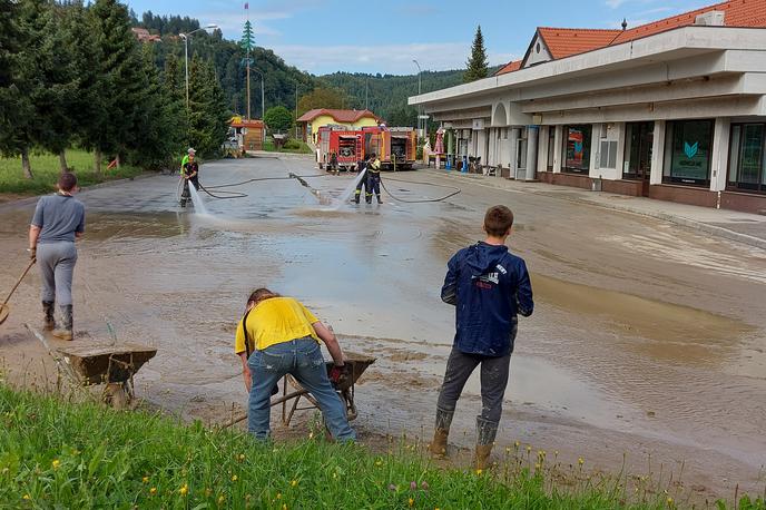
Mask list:
[[[418,157],[418,134],[411,127],[362,128],[364,154],[375,153],[386,170],[411,170]]]

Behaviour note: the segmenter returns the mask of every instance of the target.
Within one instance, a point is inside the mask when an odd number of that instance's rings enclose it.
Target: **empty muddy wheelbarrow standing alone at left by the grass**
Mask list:
[[[132,377],[156,354],[155,347],[136,344],[68,343],[51,349],[46,337],[27,328],[48,350],[61,371],[79,386],[105,384],[101,398],[115,409],[127,409],[135,398]]]

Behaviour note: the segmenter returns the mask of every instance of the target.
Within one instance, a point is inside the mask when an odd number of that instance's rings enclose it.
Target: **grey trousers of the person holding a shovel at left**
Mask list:
[[[59,306],[72,304],[71,282],[77,263],[77,247],[71,241],[38,243],[37,265],[42,281],[41,301]]]

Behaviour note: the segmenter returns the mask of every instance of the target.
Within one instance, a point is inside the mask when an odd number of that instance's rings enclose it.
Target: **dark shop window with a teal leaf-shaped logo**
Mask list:
[[[662,182],[708,186],[714,120],[674,120],[667,124]]]

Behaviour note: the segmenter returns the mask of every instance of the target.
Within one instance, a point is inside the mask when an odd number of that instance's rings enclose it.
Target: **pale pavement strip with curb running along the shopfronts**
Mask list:
[[[430,173],[433,173],[434,175],[435,171],[432,170]],[[444,174],[439,174],[439,175],[444,175]],[[479,186],[484,186],[489,187],[492,189],[499,189],[498,186],[491,186],[489,183],[484,183],[483,176],[480,175],[455,175],[455,174],[449,174],[449,177],[453,179],[467,179],[471,180],[472,183],[479,185]],[[503,189],[503,188],[501,188]],[[511,189],[507,189],[511,190]],[[546,192],[537,192],[537,190],[530,190],[530,189],[513,189],[513,192],[520,192],[520,193],[529,193],[532,195],[542,195],[547,196],[549,198],[557,198],[559,200],[567,200],[567,202],[572,202],[577,204],[587,204],[591,205],[593,207],[601,207],[603,209],[611,209],[611,210],[618,210],[621,213],[630,213],[630,214],[636,214],[639,216],[647,216],[651,218],[657,218],[657,219],[662,219],[665,222],[672,223],[675,225],[680,225],[682,227],[693,229],[693,231],[698,231],[698,232],[704,232],[706,234],[710,234],[717,237],[725,238],[727,241],[734,241],[736,243],[742,243],[748,246],[753,246],[756,248],[762,248],[766,249],[766,239],[760,238],[760,237],[755,237],[748,234],[742,234],[739,232],[734,232],[731,229],[725,228],[725,227],[719,227],[717,225],[710,225],[704,222],[698,222],[696,219],[691,218],[686,218],[684,216],[677,216],[668,213],[655,213],[650,210],[644,210],[644,209],[636,209],[634,207],[625,206],[625,205],[618,205],[618,204],[603,204],[601,202],[595,202],[595,200],[588,200],[586,198],[573,198],[571,196],[564,197],[564,196],[559,196],[556,194],[551,193],[546,193]]]

